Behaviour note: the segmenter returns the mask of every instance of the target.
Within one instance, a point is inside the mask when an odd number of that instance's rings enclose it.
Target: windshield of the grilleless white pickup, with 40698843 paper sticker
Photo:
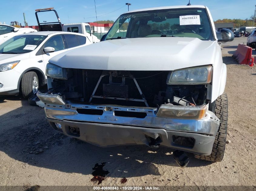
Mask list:
[[[194,37],[214,40],[204,8],[175,8],[122,14],[105,40],[141,37]]]

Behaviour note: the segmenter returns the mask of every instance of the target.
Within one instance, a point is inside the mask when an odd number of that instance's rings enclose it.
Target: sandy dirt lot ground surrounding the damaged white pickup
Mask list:
[[[90,181],[97,163],[106,163],[103,169],[109,172],[100,185],[256,185],[256,67],[238,65],[231,57],[243,40],[222,45],[231,141],[222,162],[197,160],[189,154],[188,167],[181,169],[169,148],[98,148],[54,131],[43,108],[29,106],[21,97],[2,97],[0,186],[97,185]],[[127,182],[121,184],[123,177]]]

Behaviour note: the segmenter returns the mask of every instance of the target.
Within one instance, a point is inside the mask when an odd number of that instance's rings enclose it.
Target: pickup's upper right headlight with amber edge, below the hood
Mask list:
[[[169,73],[167,84],[209,84],[212,77],[212,66],[198,66],[174,70]]]

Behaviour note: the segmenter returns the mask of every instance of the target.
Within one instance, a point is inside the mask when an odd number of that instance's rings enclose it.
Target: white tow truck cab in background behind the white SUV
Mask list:
[[[88,40],[90,40],[92,43],[100,42],[100,40],[93,35],[94,31],[91,31],[91,26],[88,23],[63,24],[63,30],[66,32],[85,34]]]

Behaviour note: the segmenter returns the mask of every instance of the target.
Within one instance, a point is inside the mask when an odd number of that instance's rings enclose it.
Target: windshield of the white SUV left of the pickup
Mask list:
[[[36,49],[46,38],[43,35],[18,35],[0,45],[0,54],[23,54]]]

